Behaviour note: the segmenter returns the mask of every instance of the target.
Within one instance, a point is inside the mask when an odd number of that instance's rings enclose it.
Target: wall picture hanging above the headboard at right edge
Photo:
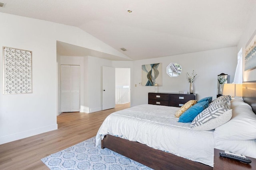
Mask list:
[[[256,31],[246,44],[244,71],[256,68]]]

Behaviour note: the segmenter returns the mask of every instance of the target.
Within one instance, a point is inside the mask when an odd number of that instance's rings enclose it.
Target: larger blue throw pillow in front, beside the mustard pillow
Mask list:
[[[204,109],[209,106],[208,101],[196,103],[194,106],[191,106],[187,109],[181,116],[178,122],[188,123],[192,122],[194,118],[201,113]]]

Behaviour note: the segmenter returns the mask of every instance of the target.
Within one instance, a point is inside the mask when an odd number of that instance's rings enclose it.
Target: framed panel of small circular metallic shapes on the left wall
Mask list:
[[[3,47],[4,94],[32,93],[32,51]]]

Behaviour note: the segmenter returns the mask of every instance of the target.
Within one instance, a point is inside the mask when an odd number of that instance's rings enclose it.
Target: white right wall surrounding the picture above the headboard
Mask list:
[[[256,16],[256,10],[254,10],[254,14],[252,16]],[[246,30],[242,35],[238,45],[237,45],[237,53],[242,48],[242,55],[243,55],[243,81],[255,81],[256,80],[256,68],[249,71],[244,71],[244,57],[245,57],[245,48],[246,44],[248,43],[249,39],[252,37],[254,32],[256,32],[256,20],[252,17],[251,21],[248,25],[246,25]]]

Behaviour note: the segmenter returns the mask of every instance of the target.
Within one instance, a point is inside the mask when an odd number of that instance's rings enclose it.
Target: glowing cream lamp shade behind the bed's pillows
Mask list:
[[[224,84],[223,95],[230,96],[243,96],[242,95],[242,84]]]

